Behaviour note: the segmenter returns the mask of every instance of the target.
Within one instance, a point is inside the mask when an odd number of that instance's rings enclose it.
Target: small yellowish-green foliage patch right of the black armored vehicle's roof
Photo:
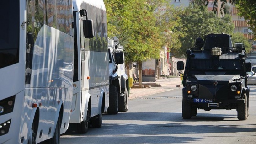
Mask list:
[[[244,43],[245,46],[245,50],[247,53],[250,53],[251,51],[251,44],[249,43],[248,39],[244,37],[244,35],[242,33],[233,33],[232,34],[232,42],[233,45],[235,42],[242,42]]]

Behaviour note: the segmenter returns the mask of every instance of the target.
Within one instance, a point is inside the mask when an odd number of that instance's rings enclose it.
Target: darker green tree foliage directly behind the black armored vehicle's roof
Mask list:
[[[216,17],[213,12],[201,9],[199,6],[189,6],[178,9],[185,37],[181,38],[182,46],[180,53],[185,54],[188,48],[194,47],[195,39],[198,36],[210,33],[233,33],[234,25],[231,16],[225,15],[223,18]]]

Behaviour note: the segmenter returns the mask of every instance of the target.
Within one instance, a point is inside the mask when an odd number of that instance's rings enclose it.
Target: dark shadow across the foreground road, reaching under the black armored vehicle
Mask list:
[[[256,124],[248,128],[249,125],[239,123],[242,121],[234,119],[236,117],[236,115],[198,113],[197,116],[191,119],[182,119],[181,113],[168,112],[104,114],[101,128],[89,128],[86,134],[77,134],[75,132],[65,133],[65,136],[61,138],[65,142],[61,140],[61,144],[71,144],[78,137],[88,139],[88,143],[90,144],[184,144],[196,143],[201,139],[206,139],[205,135],[214,137],[214,134],[210,133],[223,133],[225,137],[229,137],[229,133],[256,132]],[[165,119],[164,122],[163,119]],[[115,121],[117,123],[109,123],[109,121]],[[148,122],[139,124],[137,121]],[[211,121],[238,121],[238,123],[236,125],[213,125],[207,123]],[[152,124],[152,122],[155,122],[155,124]],[[162,122],[163,124],[161,124]],[[195,124],[195,122],[202,123]],[[196,134],[197,137],[189,137],[187,136],[188,134]],[[104,141],[102,141],[102,137]],[[86,141],[76,141],[76,144],[85,143]]]

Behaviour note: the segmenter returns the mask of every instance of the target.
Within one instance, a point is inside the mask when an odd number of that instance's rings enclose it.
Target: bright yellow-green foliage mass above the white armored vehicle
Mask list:
[[[117,36],[124,46],[125,61],[158,59],[162,46],[180,47],[181,34],[175,13],[166,0],[104,0],[107,9],[108,37]],[[166,11],[155,11],[166,7]],[[167,21],[168,19],[168,21]]]

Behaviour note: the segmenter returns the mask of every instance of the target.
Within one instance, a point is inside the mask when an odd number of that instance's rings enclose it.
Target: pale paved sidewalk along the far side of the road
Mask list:
[[[179,76],[171,76],[169,79],[156,78],[155,82],[142,82],[142,85],[151,85],[148,88],[134,88],[134,85],[138,85],[138,82],[133,83],[133,87],[130,89],[129,99],[148,96],[171,89],[181,89],[183,87]]]

